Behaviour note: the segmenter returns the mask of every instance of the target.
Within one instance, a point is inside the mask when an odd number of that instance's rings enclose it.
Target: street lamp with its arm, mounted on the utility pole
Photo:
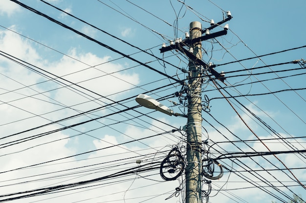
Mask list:
[[[151,96],[148,96],[146,94],[139,94],[135,100],[141,106],[166,113],[167,115],[170,115],[170,116],[174,115],[174,116],[187,117],[184,114],[173,112],[171,109],[169,109],[165,105],[159,103],[158,101],[153,99]]]

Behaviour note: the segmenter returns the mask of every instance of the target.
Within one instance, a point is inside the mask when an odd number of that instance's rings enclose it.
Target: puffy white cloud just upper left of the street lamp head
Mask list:
[[[124,69],[124,67],[120,64],[108,63],[107,61],[109,61],[109,56],[100,58],[91,53],[79,54],[76,53],[75,49],[71,49],[69,55],[79,61],[82,61],[83,63],[70,57],[63,56],[60,61],[49,64],[47,69],[56,75],[63,76],[63,78],[74,84],[78,84],[87,90],[96,92],[103,96],[130,89],[133,87],[132,84],[137,85],[139,83],[138,74],[121,74],[120,72],[116,74],[109,74]],[[81,90],[81,92],[87,92],[95,98],[101,98],[101,96],[88,92],[79,87],[73,85],[72,87]],[[109,98],[114,99],[117,96],[118,95],[113,95]],[[76,94],[68,89],[58,91],[55,95],[56,100],[65,103],[67,106],[86,102],[88,101],[88,98],[92,99],[91,96]],[[109,100],[103,99],[103,101],[109,103]],[[98,103],[92,103],[90,108],[93,109],[95,105],[99,106],[101,104],[103,103],[99,101]],[[84,110],[82,106],[88,109],[88,104],[79,105],[77,108]]]

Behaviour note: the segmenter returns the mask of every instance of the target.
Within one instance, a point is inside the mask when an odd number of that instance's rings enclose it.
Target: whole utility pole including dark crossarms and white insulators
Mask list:
[[[219,27],[221,24],[232,18],[231,13],[227,12],[227,18],[214,23],[211,20],[211,26],[202,29],[200,22],[190,23],[189,36],[186,33],[186,39],[176,38],[175,43],[166,46],[164,43],[159,49],[161,53],[177,50],[189,58],[188,70],[188,112],[187,112],[187,163],[185,169],[186,175],[186,199],[185,203],[202,203],[202,74],[209,72],[211,76],[224,83],[224,74],[219,74],[214,70],[214,65],[208,66],[202,61],[201,41],[212,39],[227,34],[228,24],[225,24],[222,31],[210,33],[210,30]],[[204,34],[202,36],[202,34]],[[189,47],[189,50],[184,46]],[[186,73],[186,72],[185,72]],[[210,76],[210,77],[211,77]],[[225,83],[224,83],[225,84]]]

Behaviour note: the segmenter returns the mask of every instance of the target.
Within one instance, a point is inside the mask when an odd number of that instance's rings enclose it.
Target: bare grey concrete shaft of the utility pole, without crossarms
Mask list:
[[[190,39],[201,37],[200,22],[190,23]],[[193,54],[202,59],[201,41],[192,43]],[[190,51],[191,52],[191,51]],[[186,203],[202,203],[201,197],[201,148],[202,148],[202,99],[201,66],[189,60],[189,98],[187,122],[187,166],[186,166]]]

